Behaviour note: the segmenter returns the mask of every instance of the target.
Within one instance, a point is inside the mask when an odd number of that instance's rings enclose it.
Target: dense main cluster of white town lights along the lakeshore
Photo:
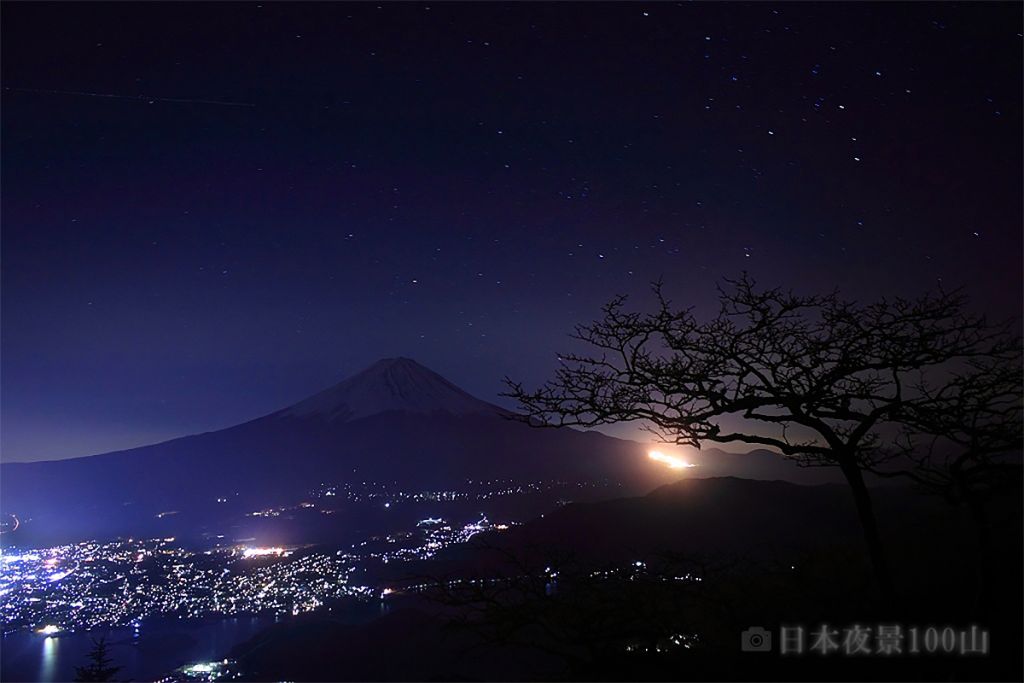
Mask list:
[[[513,522],[514,523],[514,522]],[[2,555],[3,633],[46,637],[132,625],[158,615],[292,615],[340,600],[383,597],[356,582],[367,563],[424,560],[477,533],[508,529],[485,515],[464,523],[428,517],[415,530],[371,537],[345,550],[222,546],[189,550],[174,539],[93,541]],[[137,635],[137,633],[136,633]]]

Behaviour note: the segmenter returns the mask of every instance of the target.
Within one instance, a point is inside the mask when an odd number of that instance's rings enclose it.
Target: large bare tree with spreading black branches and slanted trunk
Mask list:
[[[654,293],[652,313],[613,299],[602,319],[575,330],[595,354],[560,356],[554,379],[537,390],[506,380],[508,395],[535,424],[643,420],[675,443],[740,442],[839,467],[891,601],[864,471],[894,458],[900,427],[924,415],[913,408],[932,404],[959,366],[1013,357],[1020,341],[970,313],[959,293],[859,304],[835,292],[760,289],[743,274],[719,288],[721,308],[708,322],[676,308],[660,284]]]

